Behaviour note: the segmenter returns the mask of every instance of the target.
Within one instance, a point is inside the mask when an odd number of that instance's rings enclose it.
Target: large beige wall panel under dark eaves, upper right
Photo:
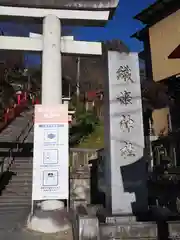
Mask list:
[[[153,79],[158,82],[180,73],[180,60],[168,59],[180,44],[180,10],[149,28]]]

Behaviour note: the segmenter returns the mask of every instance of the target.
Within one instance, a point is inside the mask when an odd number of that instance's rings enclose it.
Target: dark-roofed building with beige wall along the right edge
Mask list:
[[[144,51],[140,57],[145,61],[146,78],[166,85],[168,95],[173,99],[172,106],[152,112],[154,140],[164,136],[168,155],[175,165],[180,165],[177,161],[180,154],[177,140],[180,129],[180,2],[157,0],[134,18],[145,25],[132,37],[143,42]]]

